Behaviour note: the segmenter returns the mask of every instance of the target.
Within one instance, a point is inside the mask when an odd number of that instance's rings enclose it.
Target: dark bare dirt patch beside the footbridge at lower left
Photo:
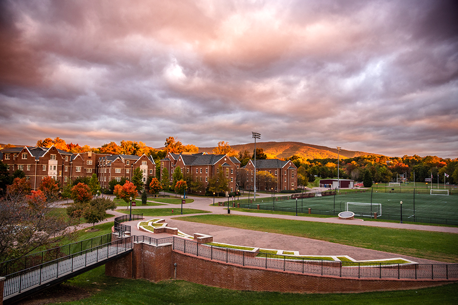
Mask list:
[[[15,302],[15,305],[43,305],[85,299],[93,295],[94,289],[84,289],[70,285],[57,285]]]

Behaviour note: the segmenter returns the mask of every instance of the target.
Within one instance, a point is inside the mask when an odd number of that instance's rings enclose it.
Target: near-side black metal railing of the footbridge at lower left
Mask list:
[[[73,272],[78,271],[79,269],[103,262],[111,256],[126,252],[132,248],[130,238],[116,240],[111,240],[110,238],[109,240],[105,239],[104,243],[98,242],[104,241],[103,239],[105,237],[111,235],[112,234],[110,233],[101,237],[59,247],[62,249],[72,249],[72,251],[70,251],[70,254],[58,256],[53,260],[48,260],[41,264],[34,264],[31,267],[26,267],[22,270],[4,275],[6,278],[4,283],[4,299],[5,297],[38,287],[45,284],[47,281],[63,277],[64,275],[71,276]],[[82,250],[73,252],[73,250],[77,249],[78,245],[81,245]],[[84,248],[83,245],[91,246]],[[64,251],[62,250],[56,252],[63,253]],[[20,264],[15,265],[15,268],[19,265]]]

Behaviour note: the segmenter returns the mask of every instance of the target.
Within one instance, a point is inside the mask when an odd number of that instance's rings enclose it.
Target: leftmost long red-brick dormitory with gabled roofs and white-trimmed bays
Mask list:
[[[143,181],[155,175],[156,165],[151,157],[132,155],[107,155],[93,152],[70,153],[54,146],[10,147],[0,151],[0,157],[10,174],[24,171],[32,190],[38,189],[43,177],[50,176],[63,186],[79,177],[91,177],[94,173],[102,187],[111,179],[132,178],[132,172],[140,168]]]

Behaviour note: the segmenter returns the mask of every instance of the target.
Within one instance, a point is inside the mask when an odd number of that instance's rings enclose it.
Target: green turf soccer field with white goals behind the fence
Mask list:
[[[415,198],[414,198],[415,197]],[[278,198],[276,198],[278,200]],[[374,191],[365,193],[351,193],[348,195],[336,195],[324,197],[304,198],[297,200],[297,212],[308,213],[308,208],[311,208],[312,214],[337,215],[338,213],[347,210],[347,202],[362,202],[381,204],[380,219],[401,218],[402,201],[402,218],[403,221],[417,222],[433,222],[433,223],[449,223],[458,225],[458,196],[450,195],[426,195],[414,193],[379,193]],[[275,201],[273,198],[262,198],[257,200],[256,204],[260,205],[260,209],[282,210],[286,212],[295,212],[296,201],[284,200]],[[242,207],[242,206],[241,206]],[[243,205],[243,207],[246,207]],[[251,204],[251,208],[255,206]],[[356,209],[357,207],[353,207]],[[367,206],[363,208],[368,208]],[[369,206],[370,208],[370,206]],[[334,210],[335,209],[335,210]],[[349,208],[352,210],[351,208]],[[414,212],[415,209],[415,212]],[[374,210],[376,210],[374,206]],[[335,211],[335,212],[334,212]],[[357,212],[352,210],[352,212]]]

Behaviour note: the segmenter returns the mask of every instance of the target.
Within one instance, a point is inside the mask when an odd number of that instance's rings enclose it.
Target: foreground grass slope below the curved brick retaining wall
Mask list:
[[[89,298],[62,302],[61,304],[422,304],[448,305],[458,303],[458,284],[441,287],[390,292],[348,294],[301,294],[278,292],[254,292],[221,289],[167,280],[151,283],[143,279],[122,279],[104,274],[104,266],[76,276],[67,284],[90,290]],[[52,289],[49,295],[52,296]]]

